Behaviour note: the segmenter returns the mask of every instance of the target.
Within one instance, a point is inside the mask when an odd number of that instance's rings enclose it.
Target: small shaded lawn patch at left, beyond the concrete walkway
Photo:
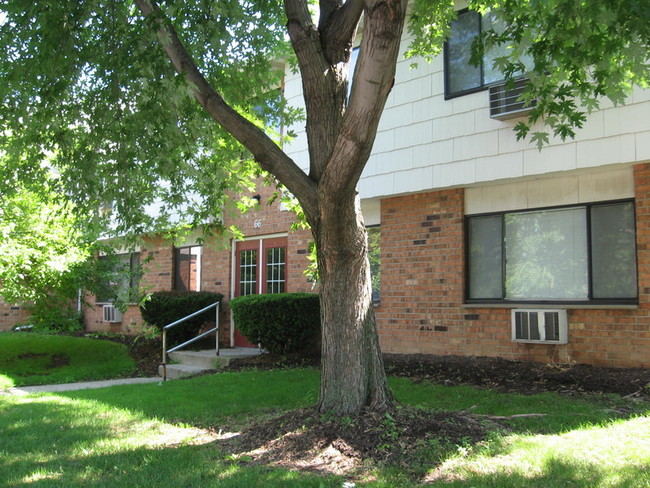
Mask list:
[[[0,332],[0,390],[128,376],[126,346],[84,337]]]

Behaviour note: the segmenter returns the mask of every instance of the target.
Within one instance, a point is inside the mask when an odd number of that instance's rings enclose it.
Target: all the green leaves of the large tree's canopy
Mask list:
[[[307,3],[285,3],[286,9],[263,0],[161,1],[158,8],[147,1],[3,0],[0,145],[11,158],[12,179],[43,179],[48,158],[80,212],[112,206],[117,233],[156,228],[155,202],[163,202],[163,225],[178,215],[206,222],[223,207],[224,190],[249,186],[258,166],[250,148],[197,106],[190,70],[175,70],[160,49],[159,42],[169,45],[172,38],[161,34],[159,24],[178,33],[196,69],[228,107],[257,127],[277,127],[280,118],[288,126],[300,114],[275,90],[284,73],[274,62],[296,62],[287,42],[287,12]],[[349,50],[346,22],[356,28],[363,4],[320,2],[315,35],[325,39],[325,27],[344,26],[345,36],[338,37]],[[421,62],[440,51],[453,1],[413,4],[408,55]],[[534,60],[525,96],[537,105],[529,123],[517,126],[522,137],[536,122],[571,137],[602,97],[622,103],[633,85],[648,86],[648,2],[484,0],[470,7],[499,12],[507,26],[484,32],[477,56],[493,45],[508,46],[507,56],[497,59],[506,76],[521,69],[523,53]],[[143,15],[143,8],[155,15]],[[331,25],[324,20],[335,17]],[[547,142],[546,132],[533,125],[533,141]]]

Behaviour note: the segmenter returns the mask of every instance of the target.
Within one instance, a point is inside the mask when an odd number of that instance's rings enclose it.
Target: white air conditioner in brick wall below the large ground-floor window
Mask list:
[[[566,310],[515,309],[512,311],[514,342],[566,344],[567,331]]]

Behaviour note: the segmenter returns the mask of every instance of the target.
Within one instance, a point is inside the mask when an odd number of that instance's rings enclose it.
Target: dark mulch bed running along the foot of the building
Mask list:
[[[162,346],[160,339],[110,336],[129,347],[136,361],[135,376],[156,376]],[[263,354],[231,362],[229,371],[318,366],[317,357],[279,357]],[[650,399],[650,369],[625,369],[511,361],[489,357],[385,354],[390,376],[445,385],[473,385],[499,391],[536,393],[614,393]]]

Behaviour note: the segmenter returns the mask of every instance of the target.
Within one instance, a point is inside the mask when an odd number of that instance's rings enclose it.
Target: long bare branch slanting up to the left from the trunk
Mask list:
[[[210,85],[156,2],[135,0],[135,3],[145,17],[154,18],[160,44],[176,71],[185,75],[196,100],[253,154],[262,169],[276,176],[298,198],[307,215],[314,215],[317,208],[316,185],[270,137],[230,107]]]

